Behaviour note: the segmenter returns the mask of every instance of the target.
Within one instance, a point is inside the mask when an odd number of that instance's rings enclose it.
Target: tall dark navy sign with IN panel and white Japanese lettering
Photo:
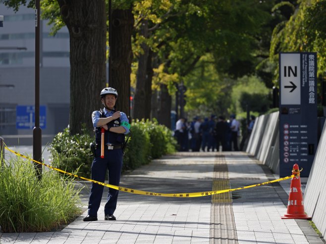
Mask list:
[[[317,150],[317,53],[279,53],[279,176],[308,177]]]

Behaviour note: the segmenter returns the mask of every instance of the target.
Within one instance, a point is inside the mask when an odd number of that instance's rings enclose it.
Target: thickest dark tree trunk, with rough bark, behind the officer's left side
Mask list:
[[[58,0],[70,36],[70,118],[72,135],[81,124],[92,128],[91,114],[101,107],[106,83],[105,1]]]

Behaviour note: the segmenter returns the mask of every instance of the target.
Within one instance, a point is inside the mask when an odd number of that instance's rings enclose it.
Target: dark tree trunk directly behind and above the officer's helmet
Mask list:
[[[132,9],[112,11],[112,36],[110,44],[111,81],[109,86],[116,89],[116,108],[130,118],[130,73],[133,53],[131,35],[134,26]]]

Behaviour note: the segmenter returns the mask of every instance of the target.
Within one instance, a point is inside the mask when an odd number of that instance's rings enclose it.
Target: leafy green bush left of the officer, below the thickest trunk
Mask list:
[[[83,134],[71,135],[69,128],[55,135],[49,151],[52,154],[54,167],[67,172],[79,171],[79,175],[86,177],[90,175],[93,158],[89,156],[90,143],[94,141],[86,130],[82,127]]]

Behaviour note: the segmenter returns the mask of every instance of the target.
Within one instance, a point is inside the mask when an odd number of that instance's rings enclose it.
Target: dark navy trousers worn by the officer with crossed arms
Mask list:
[[[104,158],[101,158],[101,148],[95,151],[95,158],[92,163],[92,180],[104,182],[107,169],[109,170],[109,184],[119,186],[122,169],[122,150],[104,150]],[[104,186],[92,183],[91,193],[88,202],[88,214],[97,216],[100,208]],[[118,199],[118,190],[109,188],[108,200],[104,207],[104,214],[113,214]]]

